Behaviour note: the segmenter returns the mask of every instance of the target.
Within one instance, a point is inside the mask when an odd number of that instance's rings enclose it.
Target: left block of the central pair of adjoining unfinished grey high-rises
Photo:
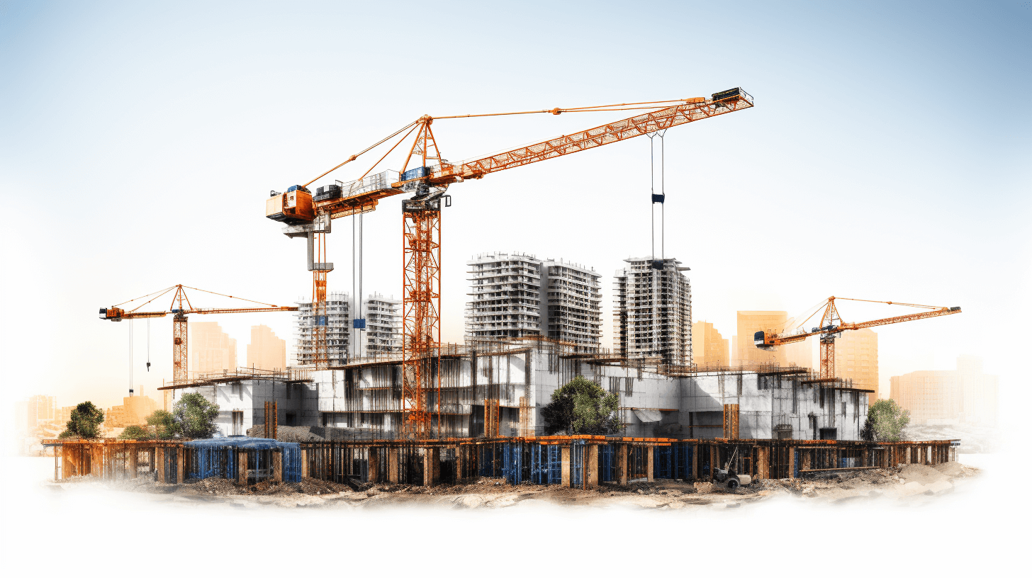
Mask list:
[[[487,253],[470,265],[465,336],[472,340],[541,335],[541,259]]]

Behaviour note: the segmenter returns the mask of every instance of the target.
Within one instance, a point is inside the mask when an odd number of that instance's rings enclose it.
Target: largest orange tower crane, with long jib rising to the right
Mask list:
[[[714,93],[708,98],[437,118],[423,116],[303,185],[291,186],[283,193],[271,191],[266,199],[265,216],[283,222],[286,225],[284,234],[287,236],[304,237],[308,240],[308,267],[313,272],[312,333],[316,370],[328,366],[326,276],[333,269],[333,264],[324,259],[325,234],[330,232],[333,219],[374,211],[379,201],[386,197],[401,193],[412,195],[401,202],[401,419],[407,437],[427,438],[431,436],[431,418],[426,397],[427,392],[433,388],[431,376],[439,376],[437,388],[440,389],[441,374],[433,365],[440,364],[441,348],[441,210],[451,204],[451,197],[446,194],[449,185],[482,179],[491,172],[587,151],[635,136],[653,135],[675,126],[742,110],[752,105],[752,97],[742,89],[735,88]],[[436,120],[444,119],[614,110],[640,113],[574,134],[565,134],[459,163],[445,160],[431,128]],[[374,172],[388,155],[410,137],[413,138],[412,145],[408,147],[400,170]],[[309,189],[309,186],[330,172],[378,147],[387,147],[392,141],[389,150],[358,179],[347,183],[336,181],[317,188],[314,193]],[[400,149],[405,150],[406,148]],[[663,202],[662,197],[662,194],[653,194],[652,200]],[[356,303],[360,303],[359,298],[356,298]],[[359,327],[363,321],[360,318],[359,311],[354,320],[355,327]]]

